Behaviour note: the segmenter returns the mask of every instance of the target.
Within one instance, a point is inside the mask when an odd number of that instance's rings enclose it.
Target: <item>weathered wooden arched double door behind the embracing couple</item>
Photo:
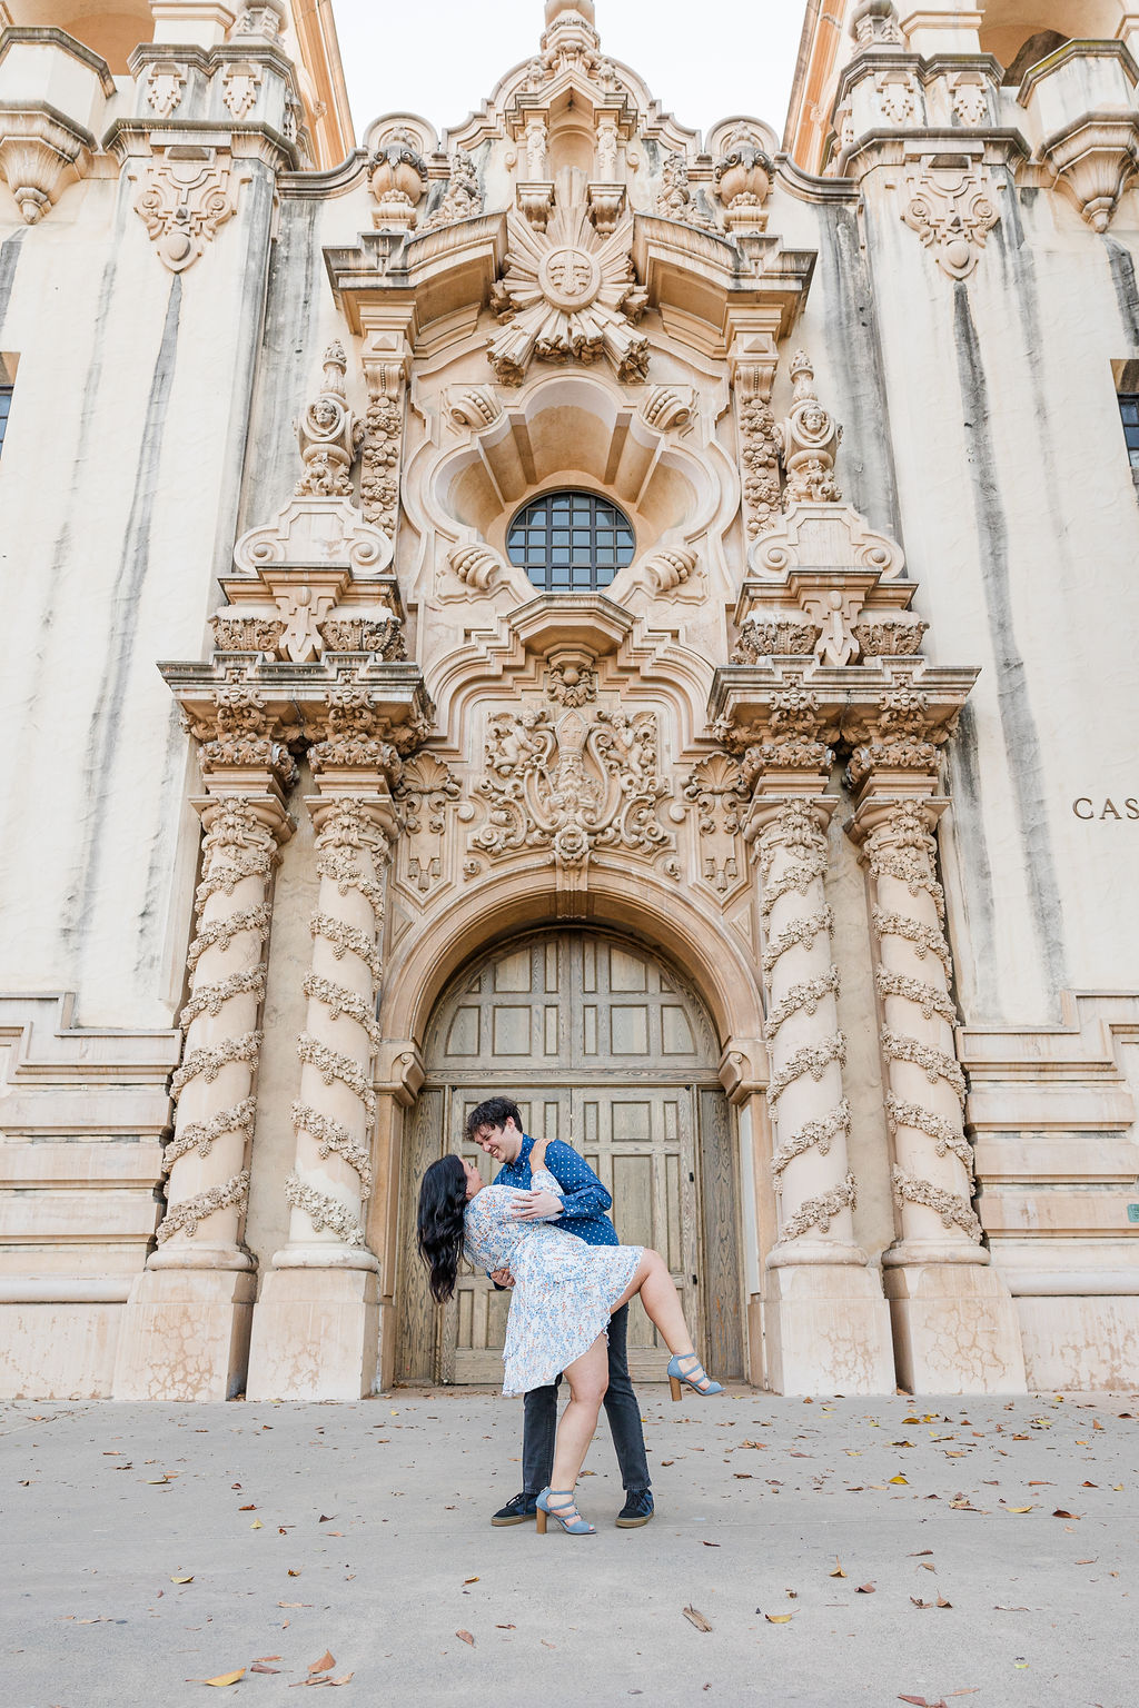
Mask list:
[[[418,1179],[456,1148],[466,1110],[492,1093],[519,1103],[528,1131],[586,1156],[613,1194],[618,1237],[666,1254],[709,1368],[743,1375],[736,1156],[719,1044],[678,972],[601,931],[514,939],[451,982],[423,1059],[403,1148],[396,1380],[502,1377],[509,1296],[464,1266],[456,1298],[437,1312],[415,1255]],[[639,1303],[628,1351],[635,1380],[663,1380],[664,1356]]]

